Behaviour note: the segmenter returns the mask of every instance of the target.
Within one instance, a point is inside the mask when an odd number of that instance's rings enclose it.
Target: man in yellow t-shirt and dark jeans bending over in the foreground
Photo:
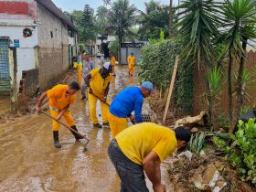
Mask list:
[[[155,192],[164,192],[160,164],[167,156],[185,146],[191,137],[186,127],[174,131],[155,123],[139,123],[118,133],[108,153],[121,178],[121,192],[149,191],[144,172]]]

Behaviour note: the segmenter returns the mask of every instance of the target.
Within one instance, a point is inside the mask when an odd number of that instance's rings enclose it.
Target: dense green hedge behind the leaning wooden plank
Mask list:
[[[181,48],[171,39],[142,48],[141,80],[151,80],[159,91],[165,91],[170,84],[176,55]],[[182,111],[193,108],[193,67],[179,61],[174,101]]]

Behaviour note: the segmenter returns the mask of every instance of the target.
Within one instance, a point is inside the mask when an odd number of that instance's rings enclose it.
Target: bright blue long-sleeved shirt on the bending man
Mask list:
[[[142,123],[144,96],[139,87],[125,88],[112,101],[110,112],[117,117],[126,118],[134,111],[136,123]]]

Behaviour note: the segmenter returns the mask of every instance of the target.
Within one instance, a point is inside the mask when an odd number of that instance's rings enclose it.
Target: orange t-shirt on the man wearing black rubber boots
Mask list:
[[[51,108],[63,110],[68,104],[74,103],[76,94],[66,95],[68,88],[68,85],[59,84],[47,91],[48,103]]]

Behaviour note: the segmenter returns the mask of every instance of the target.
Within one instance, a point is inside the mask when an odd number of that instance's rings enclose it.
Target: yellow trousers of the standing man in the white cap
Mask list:
[[[99,99],[96,98],[94,95],[88,92],[88,103],[89,103],[89,111],[90,111],[90,117],[91,117],[91,122],[93,124],[99,123],[99,120],[96,115],[96,107],[97,107],[97,101]],[[109,101],[106,101],[106,103],[110,103]],[[108,123],[108,111],[109,111],[109,106],[106,105],[106,103],[101,102],[101,113],[102,113],[102,122],[103,123]]]

